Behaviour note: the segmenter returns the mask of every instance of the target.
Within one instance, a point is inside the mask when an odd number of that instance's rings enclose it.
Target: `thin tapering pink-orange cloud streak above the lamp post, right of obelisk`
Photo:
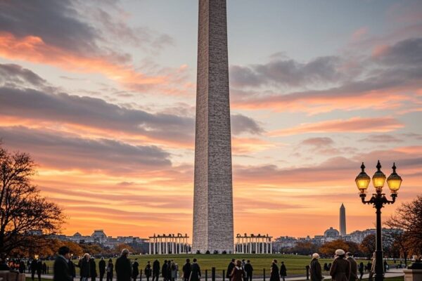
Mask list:
[[[328,120],[318,123],[301,124],[289,129],[269,132],[269,136],[288,136],[298,133],[384,133],[404,127],[392,117]]]

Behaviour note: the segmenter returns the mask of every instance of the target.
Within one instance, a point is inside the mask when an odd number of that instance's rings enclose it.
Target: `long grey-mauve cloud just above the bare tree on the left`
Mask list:
[[[170,154],[156,146],[129,145],[105,138],[86,139],[57,131],[0,127],[13,150],[29,152],[41,166],[108,172],[139,172],[170,167]]]

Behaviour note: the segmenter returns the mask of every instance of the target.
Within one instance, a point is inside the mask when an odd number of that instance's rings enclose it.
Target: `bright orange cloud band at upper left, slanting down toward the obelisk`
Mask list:
[[[35,36],[18,38],[11,33],[0,32],[0,56],[54,65],[75,72],[101,73],[129,88],[167,83],[166,77],[151,77],[136,72],[132,65],[116,65],[106,58],[75,55],[56,46],[49,46]]]

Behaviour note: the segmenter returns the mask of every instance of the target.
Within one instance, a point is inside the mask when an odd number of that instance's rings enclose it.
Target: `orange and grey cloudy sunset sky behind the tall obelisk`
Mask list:
[[[228,0],[235,233],[373,228],[421,194],[422,2]],[[0,138],[63,233],[192,231],[198,1],[0,1]],[[386,207],[384,216],[395,206]]]

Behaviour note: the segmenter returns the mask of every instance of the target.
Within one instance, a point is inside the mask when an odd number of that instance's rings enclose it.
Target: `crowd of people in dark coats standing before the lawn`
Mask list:
[[[113,264],[113,260],[109,259],[106,261],[104,258],[98,262],[99,275],[97,273],[96,261],[89,254],[84,254],[78,263],[75,264],[70,259],[70,249],[68,247],[61,247],[58,250],[58,256],[54,262],[53,280],[56,281],[74,281],[76,277],[76,267],[79,267],[79,281],[95,281],[99,277],[100,281],[106,278],[106,281],[112,281],[113,275],[117,277],[117,281],[136,281],[139,278],[139,263],[137,259],[134,259],[132,263],[129,259],[129,251],[123,249],[120,257],[117,258]],[[375,259],[375,256],[373,256]],[[22,268],[21,262],[13,264],[18,268]],[[41,261],[34,260],[28,267],[40,268],[39,264]],[[45,264],[45,263],[44,263]],[[366,265],[363,262],[357,263],[350,252],[345,253],[343,249],[335,251],[335,259],[332,263],[324,263],[324,270],[329,272],[333,281],[358,281],[362,280],[364,272],[369,273],[369,281],[373,280],[373,273],[375,270],[374,260],[369,261]],[[25,263],[23,264],[23,271],[25,272]],[[42,268],[42,267],[41,267]],[[312,261],[309,266],[310,279],[312,281],[324,280],[322,274],[321,264],[319,263],[319,254],[315,253],[312,255]],[[388,264],[384,264],[385,270],[388,269]],[[34,280],[34,271],[32,272],[32,280]],[[41,276],[42,271],[35,270],[38,276]],[[359,275],[358,275],[359,272]],[[162,277],[162,281],[177,281],[179,277],[179,266],[173,260],[165,260],[162,265],[160,261],[155,259],[151,264],[148,261],[143,273],[146,276],[146,281],[159,281]],[[229,281],[252,281],[253,267],[250,260],[236,260],[232,259],[227,266],[225,277]],[[280,266],[276,259],[271,263],[271,271],[269,281],[285,281],[287,276],[287,268],[283,261]],[[197,259],[193,259],[191,263],[190,259],[186,259],[186,263],[181,268],[181,278],[183,281],[200,281],[201,272],[200,266]]]

